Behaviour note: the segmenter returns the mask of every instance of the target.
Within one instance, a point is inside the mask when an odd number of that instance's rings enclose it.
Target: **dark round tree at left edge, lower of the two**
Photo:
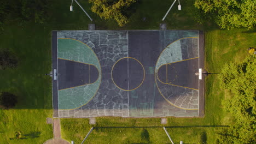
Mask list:
[[[14,107],[18,103],[16,95],[8,92],[2,92],[0,94],[0,105],[4,107],[4,109],[10,109]]]

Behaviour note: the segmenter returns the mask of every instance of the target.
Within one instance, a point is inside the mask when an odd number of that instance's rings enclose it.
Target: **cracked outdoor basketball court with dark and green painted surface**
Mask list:
[[[201,31],[53,31],[54,117],[203,116]]]

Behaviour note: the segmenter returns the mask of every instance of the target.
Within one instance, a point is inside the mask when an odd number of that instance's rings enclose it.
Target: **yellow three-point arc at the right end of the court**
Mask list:
[[[178,40],[189,39],[189,38],[198,38],[198,37],[187,37],[187,38],[181,38],[181,39],[178,39]],[[174,42],[176,42],[176,41],[178,41],[178,40],[173,41],[171,44],[173,44]],[[169,44],[168,46],[170,46],[171,44]],[[166,46],[166,48],[167,48],[168,46]],[[166,48],[165,48],[165,49],[166,49]],[[165,49],[164,49],[162,52],[164,52]],[[160,53],[159,57],[162,55],[162,52]],[[159,57],[158,57],[158,61],[159,61]],[[158,61],[156,61],[156,64],[158,63]],[[155,65],[156,65],[156,64],[155,64]],[[165,65],[165,64],[162,64],[162,65]],[[160,65],[160,67],[161,67],[162,65]],[[159,67],[159,68],[160,68],[160,67]],[[158,70],[159,70],[159,69],[158,69]],[[173,105],[173,106],[175,106],[175,107],[178,107],[179,109],[183,109],[183,110],[199,110],[199,109],[186,109],[186,108],[183,108],[183,107],[179,107],[179,106],[177,106],[177,105],[172,104],[171,101],[169,101],[168,99],[166,99],[165,96],[161,93],[161,91],[160,91],[160,89],[159,89],[159,87],[158,87],[158,82],[156,81],[157,79],[160,81],[160,79],[159,79],[159,77],[158,77],[158,70],[157,70],[156,73],[155,73],[155,75],[156,75],[156,76],[155,76],[156,87],[158,88],[158,91],[159,91],[159,93],[162,95],[162,97],[167,101],[167,103],[169,103],[169,104],[171,104],[171,105]],[[161,82],[161,81],[160,81],[160,82]]]

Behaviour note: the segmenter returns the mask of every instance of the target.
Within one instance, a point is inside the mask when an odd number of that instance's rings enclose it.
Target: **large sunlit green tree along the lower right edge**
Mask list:
[[[256,56],[249,55],[241,63],[226,64],[219,75],[220,87],[232,97],[223,101],[224,109],[235,123],[220,131],[216,143],[256,143]]]

